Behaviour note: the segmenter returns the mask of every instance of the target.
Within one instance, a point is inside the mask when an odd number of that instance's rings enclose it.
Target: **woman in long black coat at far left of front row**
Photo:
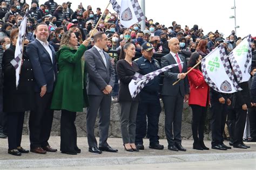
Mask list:
[[[20,156],[29,153],[21,147],[22,129],[25,111],[34,107],[34,78],[33,70],[28,56],[24,50],[22,58],[19,84],[16,88],[15,68],[10,61],[15,58],[15,46],[18,38],[18,29],[11,31],[11,46],[3,55],[3,111],[8,115],[8,153]],[[29,40],[25,40],[29,43]]]

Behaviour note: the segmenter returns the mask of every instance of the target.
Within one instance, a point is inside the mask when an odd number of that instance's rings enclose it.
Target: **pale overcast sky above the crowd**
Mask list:
[[[66,0],[68,2],[70,0]],[[27,0],[31,4],[31,0]],[[39,4],[45,1],[40,0]],[[55,0],[58,4],[62,4],[63,0]],[[109,1],[107,0],[86,0],[86,1],[70,1],[71,9],[76,10],[80,2],[86,9],[87,5],[92,6],[93,12],[99,7],[102,11],[106,8]],[[140,3],[140,0],[138,0]],[[185,25],[190,28],[197,24],[199,28],[204,30],[204,34],[218,30],[224,33],[224,37],[229,36],[231,31],[234,30],[234,0],[145,0],[145,15],[147,19],[153,19],[154,23],[159,22],[165,26],[171,26],[172,21],[176,21],[184,29]],[[256,1],[255,0],[236,0],[235,1],[237,25],[237,36],[244,37],[247,34],[256,36]],[[113,11],[112,5],[108,8]]]

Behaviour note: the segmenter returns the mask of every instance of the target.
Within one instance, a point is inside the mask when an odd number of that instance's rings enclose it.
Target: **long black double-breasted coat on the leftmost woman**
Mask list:
[[[15,68],[10,61],[14,59],[15,46],[6,49],[3,55],[3,111],[4,112],[22,112],[32,110],[34,107],[34,86],[32,65],[26,52],[23,53],[23,65],[21,74],[19,74],[19,85],[16,89]]]

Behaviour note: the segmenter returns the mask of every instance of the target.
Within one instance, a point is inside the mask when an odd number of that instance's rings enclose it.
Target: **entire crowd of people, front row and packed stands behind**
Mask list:
[[[149,148],[164,149],[158,136],[160,98],[164,104],[169,150],[186,151],[181,145],[184,101],[192,108],[193,149],[209,150],[204,144],[208,108],[212,114],[211,148],[231,149],[224,144],[225,124],[230,133],[229,145],[234,148],[250,148],[243,141],[256,141],[254,62],[250,81],[239,84],[242,90],[234,94],[210,88],[200,64],[185,74],[221,43],[226,54],[230,53],[241,42],[234,31],[224,37],[218,30],[205,33],[198,25],[191,29],[186,25],[182,29],[176,22],[167,27],[153,23],[153,19],[146,19],[145,30],[141,30],[139,23],[124,29],[120,27],[117,13],[109,10],[102,13],[100,8],[94,9],[91,5],[84,9],[82,3],[73,11],[71,2],[62,5],[53,0],[40,5],[38,0],[31,4],[25,0],[0,2],[0,138],[8,136],[9,154],[29,153],[21,146],[25,111],[30,111],[30,152],[57,152],[48,143],[54,110],[62,111],[60,151],[80,153],[75,120],[76,113],[83,108],[87,108],[89,152],[118,152],[107,143],[112,97],[117,97],[120,103],[125,151],[144,150],[145,137],[150,140]],[[10,61],[15,57],[18,28],[26,10],[29,16],[16,88],[15,67]],[[253,61],[256,60],[255,44],[256,41],[251,42]],[[110,50],[118,53],[108,53]],[[136,52],[141,56],[134,60]],[[154,53],[164,56],[159,61],[153,58]],[[131,97],[129,83],[136,72],[145,75],[174,63],[180,65],[164,72],[163,86],[160,86],[159,75],[146,84],[136,98]],[[178,79],[181,81],[172,85]],[[118,95],[113,95],[113,91],[118,91]],[[99,144],[95,137],[97,115]]]

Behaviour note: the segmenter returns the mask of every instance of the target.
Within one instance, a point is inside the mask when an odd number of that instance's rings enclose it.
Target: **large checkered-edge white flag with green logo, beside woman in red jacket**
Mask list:
[[[234,79],[223,44],[213,49],[201,60],[205,82],[220,93],[234,93],[242,90]]]

